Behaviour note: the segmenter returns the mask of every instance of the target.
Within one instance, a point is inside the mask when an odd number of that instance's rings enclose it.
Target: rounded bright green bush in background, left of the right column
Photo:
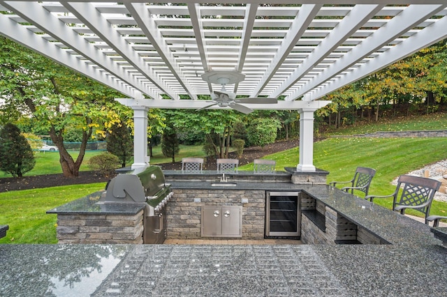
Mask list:
[[[265,146],[277,139],[277,130],[281,128],[281,123],[277,119],[254,119],[251,121],[248,132],[248,141],[253,146]]]

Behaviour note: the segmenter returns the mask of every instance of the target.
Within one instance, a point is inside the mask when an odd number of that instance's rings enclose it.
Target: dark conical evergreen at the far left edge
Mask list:
[[[36,165],[34,153],[16,125],[7,123],[0,130],[0,169],[22,177]]]

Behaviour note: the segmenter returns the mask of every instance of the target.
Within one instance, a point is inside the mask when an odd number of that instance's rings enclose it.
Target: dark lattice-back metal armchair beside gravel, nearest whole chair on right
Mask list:
[[[406,209],[420,211],[425,215],[425,224],[428,224],[428,215],[432,205],[434,193],[439,190],[440,181],[420,176],[401,175],[397,179],[397,187],[393,194],[385,196],[369,195],[365,199],[373,201],[374,198],[393,197],[393,211],[405,214]],[[399,196],[400,188],[402,194]]]

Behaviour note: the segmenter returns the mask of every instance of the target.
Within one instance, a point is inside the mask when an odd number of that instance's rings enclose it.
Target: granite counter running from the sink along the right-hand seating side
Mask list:
[[[173,189],[205,190],[302,190],[334,209],[344,218],[393,245],[439,244],[430,227],[400,213],[390,211],[330,185],[296,185],[293,183],[251,183],[237,181],[235,187],[212,187],[207,181],[174,181]]]

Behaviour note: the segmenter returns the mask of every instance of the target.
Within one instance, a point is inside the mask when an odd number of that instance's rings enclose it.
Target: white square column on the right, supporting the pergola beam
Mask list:
[[[314,108],[300,109],[300,163],[297,172],[315,172],[314,166]]]

